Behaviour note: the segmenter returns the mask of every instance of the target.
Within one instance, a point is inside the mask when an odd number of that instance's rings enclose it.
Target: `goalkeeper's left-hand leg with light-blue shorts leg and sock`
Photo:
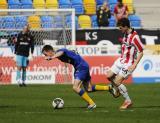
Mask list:
[[[22,69],[22,56],[16,56],[16,65],[17,65],[17,72],[16,72],[16,81],[21,86],[21,69]]]

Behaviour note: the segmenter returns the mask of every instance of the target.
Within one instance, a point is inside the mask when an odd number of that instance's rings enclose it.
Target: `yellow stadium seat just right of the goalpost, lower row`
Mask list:
[[[91,28],[91,18],[88,15],[80,15],[78,17],[80,28]]]

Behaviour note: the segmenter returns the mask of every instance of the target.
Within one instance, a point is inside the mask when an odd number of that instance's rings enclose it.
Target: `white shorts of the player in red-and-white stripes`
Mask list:
[[[112,65],[111,71],[123,76],[124,78],[128,78],[128,76],[132,74],[131,71],[128,71],[128,67],[131,65],[131,63],[121,63],[120,58],[118,58]]]

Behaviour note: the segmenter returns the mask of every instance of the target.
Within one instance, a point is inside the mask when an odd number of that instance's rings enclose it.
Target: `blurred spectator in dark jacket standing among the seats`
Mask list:
[[[111,17],[111,12],[107,5],[107,2],[104,2],[97,10],[97,23],[99,27],[107,27],[109,25],[108,19]]]

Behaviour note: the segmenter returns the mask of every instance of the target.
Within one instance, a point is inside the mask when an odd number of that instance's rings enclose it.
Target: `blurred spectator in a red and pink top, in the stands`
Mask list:
[[[122,0],[118,0],[118,3],[114,8],[114,16],[116,22],[122,18],[128,18],[128,7],[122,3]]]

